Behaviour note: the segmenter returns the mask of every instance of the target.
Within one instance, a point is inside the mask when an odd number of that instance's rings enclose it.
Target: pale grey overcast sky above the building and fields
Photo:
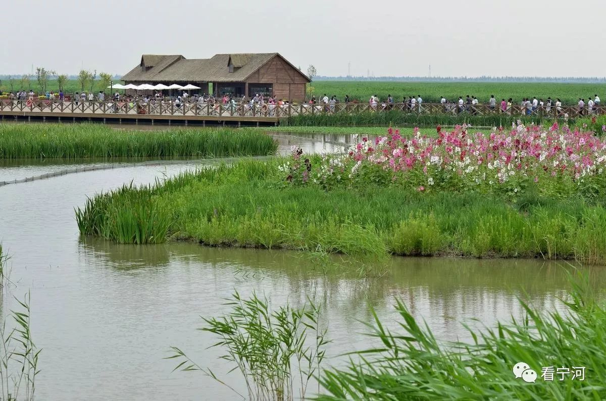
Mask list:
[[[319,75],[605,76],[606,1],[2,2],[0,74],[277,51]]]

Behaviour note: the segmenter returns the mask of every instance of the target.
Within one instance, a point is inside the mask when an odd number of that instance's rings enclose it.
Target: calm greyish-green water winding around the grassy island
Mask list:
[[[339,146],[308,138],[285,136],[281,146]],[[0,168],[0,180],[10,168]],[[397,330],[394,297],[427,320],[440,339],[454,340],[469,338],[461,320],[475,317],[481,323],[474,324],[491,325],[521,316],[518,296],[551,310],[568,288],[560,263],[538,260],[396,257],[389,276],[358,279],[353,273],[324,277],[304,256],[285,251],[184,242],[119,245],[79,237],[73,208],[87,196],[193,168],[126,167],[0,187],[0,241],[12,256],[15,282],[4,296],[4,313],[16,308],[12,296],[21,299],[31,291],[32,332],[42,348],[38,399],[237,399],[200,373],[171,373],[175,360],[163,359],[169,346],[179,346],[224,376],[230,366],[216,359],[220,350],[206,349],[213,337],[195,329],[202,326],[201,314],[228,310],[223,298],[233,290],[265,293],[272,305],[302,305],[307,297],[323,303],[322,323],[333,340],[329,363],[341,365],[339,354],[371,345],[360,323],[370,319],[370,308]],[[603,287],[604,270],[592,268],[590,274]],[[227,381],[245,392],[236,374]]]

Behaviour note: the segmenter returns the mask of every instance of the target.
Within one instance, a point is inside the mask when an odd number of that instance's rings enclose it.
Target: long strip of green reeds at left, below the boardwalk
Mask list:
[[[114,130],[99,124],[2,124],[0,159],[266,156],[278,145],[256,130]]]

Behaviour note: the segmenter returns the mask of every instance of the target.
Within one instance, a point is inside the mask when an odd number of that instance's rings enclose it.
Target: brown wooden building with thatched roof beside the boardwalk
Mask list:
[[[193,84],[201,93],[266,96],[304,101],[310,79],[279,53],[236,53],[210,59],[182,55],[143,55],[141,62],[122,77],[125,84]]]

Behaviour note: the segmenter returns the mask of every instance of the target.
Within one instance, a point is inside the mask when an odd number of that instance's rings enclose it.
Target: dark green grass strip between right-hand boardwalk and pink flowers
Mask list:
[[[287,126],[318,126],[324,125],[329,127],[339,127],[348,125],[390,125],[390,124],[407,124],[407,125],[456,125],[456,124],[471,124],[473,126],[483,127],[509,127],[512,122],[521,120],[524,124],[534,122],[539,124],[542,119],[539,116],[520,116],[520,115],[503,115],[494,114],[493,116],[473,116],[468,113],[460,114],[430,114],[418,115],[416,113],[405,113],[399,110],[380,111],[380,112],[364,112],[364,113],[322,113],[322,114],[305,114],[284,119],[281,123]],[[574,121],[570,121],[573,123]]]

